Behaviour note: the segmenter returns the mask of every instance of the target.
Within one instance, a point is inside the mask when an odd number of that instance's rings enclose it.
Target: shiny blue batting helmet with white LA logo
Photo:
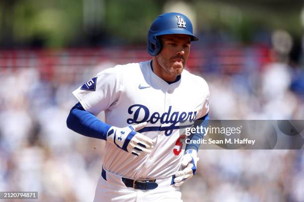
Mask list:
[[[150,26],[147,44],[149,54],[155,56],[160,52],[161,42],[157,37],[165,34],[186,34],[191,37],[191,41],[198,41],[186,15],[177,12],[164,13],[157,16]]]

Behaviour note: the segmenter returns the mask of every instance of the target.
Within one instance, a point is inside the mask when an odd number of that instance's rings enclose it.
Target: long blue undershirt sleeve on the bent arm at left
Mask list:
[[[107,132],[111,126],[100,121],[94,114],[85,111],[78,102],[70,111],[67,127],[87,137],[107,140]]]

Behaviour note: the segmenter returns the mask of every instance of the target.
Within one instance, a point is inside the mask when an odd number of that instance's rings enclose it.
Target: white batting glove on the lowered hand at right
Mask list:
[[[196,165],[199,157],[196,150],[187,150],[182,159],[183,170],[175,174],[174,185],[179,187],[184,182],[188,181],[196,173]]]

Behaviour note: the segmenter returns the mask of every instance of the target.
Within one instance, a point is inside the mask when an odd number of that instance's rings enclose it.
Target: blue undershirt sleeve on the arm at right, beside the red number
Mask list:
[[[209,122],[209,114],[207,113],[205,116],[197,119],[195,121],[195,124],[193,125],[193,127],[196,128],[197,126],[199,126],[199,127],[207,128],[208,122]],[[193,133],[193,134],[191,134],[189,136],[188,139],[189,140],[200,140],[200,139],[203,140],[204,139],[204,135],[205,134],[202,134],[202,133]],[[197,142],[199,142],[199,141],[197,141]],[[197,143],[197,144],[193,144],[193,143],[187,144],[186,148],[185,148],[185,151],[187,151],[187,150],[196,150],[196,152],[198,152],[199,147],[200,147],[199,143]]]

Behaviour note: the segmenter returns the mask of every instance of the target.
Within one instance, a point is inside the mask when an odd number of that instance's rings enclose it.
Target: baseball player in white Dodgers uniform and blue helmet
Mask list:
[[[208,120],[209,111],[206,81],[184,70],[197,40],[187,16],[161,14],[148,33],[152,60],[101,71],[73,92],[79,102],[67,126],[106,141],[95,202],[182,201],[179,186],[196,173],[199,145],[182,152],[179,128]]]

